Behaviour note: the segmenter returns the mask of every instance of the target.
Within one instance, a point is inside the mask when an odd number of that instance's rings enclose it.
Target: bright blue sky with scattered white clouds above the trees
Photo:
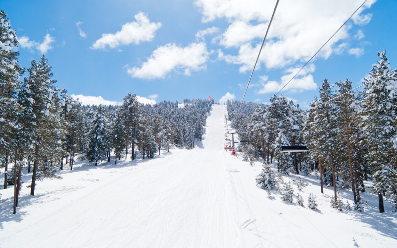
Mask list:
[[[241,100],[276,0],[1,0],[19,62],[42,54],[84,103]],[[363,0],[280,0],[245,100],[268,98]],[[386,50],[396,68],[395,0],[367,0],[282,92],[308,107],[324,78],[358,86]]]

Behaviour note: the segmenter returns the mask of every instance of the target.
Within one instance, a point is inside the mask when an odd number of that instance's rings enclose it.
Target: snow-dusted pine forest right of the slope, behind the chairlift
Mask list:
[[[364,79],[364,90],[352,90],[348,79],[322,82],[320,95],[303,111],[285,96],[272,96],[268,104],[227,101],[229,120],[240,139],[249,141],[245,153],[267,163],[275,158],[280,173],[320,173],[323,185],[351,189],[355,207],[360,209],[364,180],[372,180],[378,194],[397,208],[397,72],[392,70],[386,51],[378,53]],[[238,120],[237,120],[238,116]],[[283,145],[307,145],[308,152],[284,153]]]

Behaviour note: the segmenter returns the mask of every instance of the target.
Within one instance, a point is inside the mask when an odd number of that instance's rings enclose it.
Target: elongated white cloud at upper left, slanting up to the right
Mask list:
[[[161,27],[161,23],[150,22],[146,14],[139,12],[133,22],[128,22],[122,26],[121,31],[115,34],[102,34],[102,38],[92,44],[93,49],[117,48],[121,45],[131,43],[139,44],[140,42],[151,41],[154,35]]]

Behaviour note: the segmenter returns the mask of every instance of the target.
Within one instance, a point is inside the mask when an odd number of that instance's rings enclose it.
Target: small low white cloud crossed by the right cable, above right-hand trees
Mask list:
[[[285,84],[288,83],[289,80],[291,80],[291,78],[298,72],[299,69],[300,67],[287,69],[286,72],[288,72],[288,74],[283,75],[280,82],[273,80],[267,82],[264,81],[263,87],[258,91],[258,93],[277,93],[282,89],[282,87],[284,87]],[[291,80],[291,82],[287,84],[287,86],[285,86],[283,91],[296,93],[303,92],[305,90],[317,89],[317,84],[314,82],[313,75],[309,74],[314,72],[314,70],[315,66],[313,64],[305,67],[294,79]]]

